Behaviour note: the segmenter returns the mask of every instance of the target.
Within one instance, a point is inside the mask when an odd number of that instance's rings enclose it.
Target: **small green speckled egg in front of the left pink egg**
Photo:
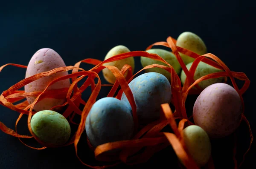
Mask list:
[[[51,110],[42,110],[31,118],[32,132],[46,146],[60,146],[67,142],[71,129],[67,119]]]

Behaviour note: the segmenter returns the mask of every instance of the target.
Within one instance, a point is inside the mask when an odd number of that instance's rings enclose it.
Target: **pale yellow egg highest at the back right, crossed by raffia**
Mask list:
[[[180,34],[177,38],[176,46],[188,49],[199,55],[207,53],[207,48],[204,44],[204,41],[197,34],[194,34],[192,32],[183,32],[182,34]],[[182,58],[185,65],[195,60],[194,58],[182,53],[180,53],[180,57]]]

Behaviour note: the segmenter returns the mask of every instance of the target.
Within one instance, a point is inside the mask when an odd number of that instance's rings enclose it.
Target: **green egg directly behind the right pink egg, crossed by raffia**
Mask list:
[[[188,63],[186,65],[186,68],[189,70],[190,67],[192,66],[192,63]],[[195,74],[194,74],[194,80],[199,79],[200,77],[203,77],[207,74],[211,74],[211,73],[216,73],[216,72],[221,72],[223,70],[221,69],[217,69],[213,66],[208,65],[207,63],[204,62],[200,62],[195,70]],[[184,72],[184,70],[181,71],[180,74],[180,81],[181,83],[184,85],[186,80],[186,74]],[[219,78],[211,78],[211,79],[207,79],[204,81],[201,81],[200,83],[198,83],[198,86],[200,86],[202,89],[205,89],[207,86],[210,86],[214,83],[220,83],[224,80],[224,77],[219,77]]]

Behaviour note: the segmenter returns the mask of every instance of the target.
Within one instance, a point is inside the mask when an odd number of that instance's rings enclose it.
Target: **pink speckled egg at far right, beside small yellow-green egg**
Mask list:
[[[233,133],[239,126],[242,103],[236,90],[226,83],[205,88],[194,104],[193,119],[209,137],[220,138]]]

